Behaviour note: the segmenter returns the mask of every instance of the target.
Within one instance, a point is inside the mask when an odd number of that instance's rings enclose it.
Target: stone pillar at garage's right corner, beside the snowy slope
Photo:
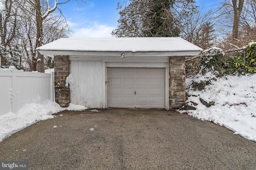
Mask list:
[[[169,108],[179,108],[186,101],[185,57],[177,56],[169,59]]]

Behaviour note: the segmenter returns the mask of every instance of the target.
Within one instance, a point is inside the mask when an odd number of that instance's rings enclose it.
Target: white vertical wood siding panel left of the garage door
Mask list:
[[[103,108],[105,89],[105,66],[102,61],[71,61],[70,73],[75,77],[75,87],[71,90],[72,104],[88,108]]]

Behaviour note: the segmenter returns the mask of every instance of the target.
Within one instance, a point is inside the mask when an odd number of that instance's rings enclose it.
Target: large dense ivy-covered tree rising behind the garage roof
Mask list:
[[[130,0],[124,8],[120,3],[116,37],[177,37],[182,18],[196,12],[194,0]]]

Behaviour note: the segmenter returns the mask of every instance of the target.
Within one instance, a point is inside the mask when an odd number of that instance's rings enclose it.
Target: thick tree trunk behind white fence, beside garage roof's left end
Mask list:
[[[42,46],[42,37],[43,37],[42,25],[43,24],[42,24],[40,0],[36,0],[36,47]],[[33,59],[33,64],[34,64],[34,60],[35,59]],[[41,55],[39,52],[37,53],[36,63],[37,63],[38,72],[44,72],[44,55]]]

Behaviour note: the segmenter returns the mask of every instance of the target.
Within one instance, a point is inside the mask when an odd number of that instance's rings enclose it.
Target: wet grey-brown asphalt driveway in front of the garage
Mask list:
[[[256,143],[174,111],[62,111],[2,141],[0,160],[35,170],[256,169]]]

